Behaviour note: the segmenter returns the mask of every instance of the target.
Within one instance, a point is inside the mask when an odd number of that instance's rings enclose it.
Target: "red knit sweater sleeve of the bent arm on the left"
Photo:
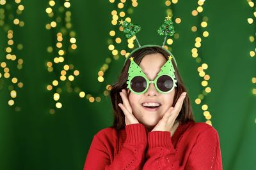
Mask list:
[[[109,145],[95,135],[84,164],[84,170],[123,170],[141,169],[145,159],[147,134],[142,124],[125,126],[126,139],[122,149],[111,162]],[[114,152],[113,150],[111,152]]]

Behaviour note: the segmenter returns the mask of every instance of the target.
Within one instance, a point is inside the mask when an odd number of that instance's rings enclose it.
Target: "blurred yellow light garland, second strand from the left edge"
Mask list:
[[[47,30],[51,30],[54,34],[54,43],[47,47],[47,52],[54,57],[51,61],[46,63],[47,70],[54,72],[54,80],[47,85],[46,89],[52,92],[52,98],[56,101],[54,108],[60,109],[62,104],[60,102],[61,92],[63,87],[66,87],[67,92],[77,92],[81,94],[78,87],[72,86],[72,81],[76,76],[79,76],[79,70],[74,69],[74,64],[68,61],[70,53],[76,50],[76,32],[72,31],[71,11],[69,0],[66,1],[49,1],[49,6],[45,12],[50,18],[48,24],[45,25]],[[64,84],[64,85],[63,85]],[[55,109],[51,108],[50,113],[54,114]]]

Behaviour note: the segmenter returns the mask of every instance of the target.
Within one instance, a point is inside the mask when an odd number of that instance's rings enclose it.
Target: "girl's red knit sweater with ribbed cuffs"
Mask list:
[[[179,124],[170,132],[146,132],[142,124],[109,127],[93,138],[84,170],[222,169],[218,132],[205,123]]]

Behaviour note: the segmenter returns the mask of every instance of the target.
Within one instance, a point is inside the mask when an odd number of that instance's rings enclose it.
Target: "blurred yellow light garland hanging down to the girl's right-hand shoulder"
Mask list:
[[[207,104],[203,104],[203,101],[205,99],[205,96],[211,92],[211,87],[209,87],[209,80],[210,80],[210,75],[206,74],[206,70],[208,69],[208,64],[205,62],[202,62],[202,56],[198,57],[198,53],[202,52],[200,50],[200,47],[202,47],[202,39],[207,38],[209,36],[209,32],[206,31],[206,27],[208,25],[208,17],[202,17],[202,12],[204,11],[204,3],[205,0],[199,0],[197,2],[198,6],[196,7],[196,10],[193,10],[191,12],[191,15],[193,17],[198,17],[200,20],[200,25],[199,26],[193,26],[191,27],[192,32],[197,32],[199,36],[196,36],[195,38],[195,46],[191,49],[192,52],[192,57],[195,58],[196,62],[200,64],[200,66],[197,68],[197,71],[199,73],[199,76],[202,77],[202,93],[198,95],[198,97],[195,99],[196,104],[202,104],[201,108],[204,111],[204,117],[207,120],[205,123],[212,125],[211,118],[212,115],[209,111],[209,107]]]

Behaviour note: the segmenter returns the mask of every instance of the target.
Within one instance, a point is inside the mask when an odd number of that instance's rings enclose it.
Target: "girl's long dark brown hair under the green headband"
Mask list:
[[[168,56],[169,56],[168,52],[166,52],[165,50],[157,46],[141,48],[140,50],[137,50],[136,52],[132,53],[132,57],[134,57],[134,62],[140,65],[140,62],[143,59],[143,57],[145,57],[145,55],[152,54],[152,53],[161,53],[164,56],[164,58],[168,60]],[[125,116],[123,111],[118,106],[118,103],[122,103],[122,98],[119,92],[121,92],[122,89],[127,88],[126,81],[128,77],[128,69],[129,69],[130,63],[131,61],[129,59],[125,62],[118,80],[114,85],[112,85],[112,89],[110,91],[111,102],[112,102],[113,112],[114,112],[113,127],[116,130],[119,130],[125,127]],[[175,65],[175,62],[173,62],[173,60],[172,60],[172,64],[175,69],[175,76],[177,78],[177,87],[175,87],[175,96],[173,99],[173,106],[175,106],[175,104],[177,103],[177,100],[179,99],[179,96],[182,94],[182,92],[187,92],[187,90],[179,74],[179,70],[177,69],[177,66]],[[189,121],[195,122],[195,118],[193,116],[193,111],[191,108],[188,95],[184,99],[181,111],[175,120],[175,122],[178,122],[178,121],[181,124],[185,124]]]

